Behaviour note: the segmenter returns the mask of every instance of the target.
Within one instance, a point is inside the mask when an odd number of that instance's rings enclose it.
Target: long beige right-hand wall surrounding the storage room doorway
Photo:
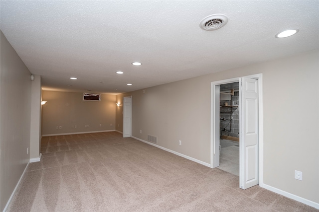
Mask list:
[[[318,58],[318,50],[307,52],[117,95],[116,101],[132,95],[132,136],[157,136],[160,146],[210,163],[211,82],[262,73],[264,184],[319,203]],[[118,131],[122,111],[116,110]],[[294,179],[295,170],[303,181]]]

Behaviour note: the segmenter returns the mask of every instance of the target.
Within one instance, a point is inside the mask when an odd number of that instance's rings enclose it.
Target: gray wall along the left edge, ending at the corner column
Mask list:
[[[0,210],[10,198],[26,164],[30,145],[31,80],[1,32],[0,65]]]

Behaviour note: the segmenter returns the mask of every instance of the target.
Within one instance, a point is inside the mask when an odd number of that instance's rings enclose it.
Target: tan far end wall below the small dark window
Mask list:
[[[42,106],[43,136],[115,130],[116,96],[102,94],[101,101],[83,101],[82,95],[43,91],[42,99],[47,101]],[[56,126],[62,129],[56,129]]]

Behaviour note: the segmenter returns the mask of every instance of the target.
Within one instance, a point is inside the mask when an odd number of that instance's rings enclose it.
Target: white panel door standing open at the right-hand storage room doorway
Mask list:
[[[239,151],[239,186],[247,189],[258,185],[258,80],[242,77]]]

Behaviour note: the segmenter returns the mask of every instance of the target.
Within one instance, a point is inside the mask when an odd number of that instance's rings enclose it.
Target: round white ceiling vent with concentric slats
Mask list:
[[[216,30],[223,27],[228,21],[228,18],[223,14],[214,14],[205,17],[199,24],[203,30]]]

